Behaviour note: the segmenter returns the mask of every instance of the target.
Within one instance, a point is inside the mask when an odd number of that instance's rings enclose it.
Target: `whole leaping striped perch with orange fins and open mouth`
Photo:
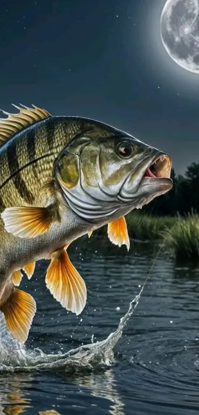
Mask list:
[[[16,106],[0,119],[0,311],[21,342],[36,302],[19,287],[38,260],[50,260],[45,283],[79,315],[86,285],[68,247],[107,225],[110,240],[129,238],[125,215],[172,188],[170,156],[101,121],[53,116]]]

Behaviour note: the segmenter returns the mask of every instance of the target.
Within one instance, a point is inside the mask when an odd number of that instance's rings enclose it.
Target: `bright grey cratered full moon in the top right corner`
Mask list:
[[[167,0],[160,33],[169,56],[182,68],[199,74],[199,0]]]

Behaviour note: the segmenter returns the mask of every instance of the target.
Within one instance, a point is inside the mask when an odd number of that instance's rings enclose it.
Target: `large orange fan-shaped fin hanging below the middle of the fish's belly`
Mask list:
[[[86,304],[85,282],[64,248],[54,252],[51,258],[45,277],[46,286],[62,307],[79,315]]]

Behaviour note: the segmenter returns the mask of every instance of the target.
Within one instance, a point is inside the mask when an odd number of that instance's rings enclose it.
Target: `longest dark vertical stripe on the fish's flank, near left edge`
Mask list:
[[[22,179],[20,172],[19,172],[19,163],[17,160],[17,147],[16,147],[16,140],[12,141],[11,145],[7,147],[7,161],[10,171],[10,176],[14,175],[12,181],[22,197],[26,202],[31,203],[34,200],[33,194],[28,190],[24,180]]]

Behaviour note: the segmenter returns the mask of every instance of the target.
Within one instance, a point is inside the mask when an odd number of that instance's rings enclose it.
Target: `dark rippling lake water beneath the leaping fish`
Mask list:
[[[46,289],[47,261],[37,264],[31,281],[23,277],[37,314],[26,348],[11,339],[1,318],[0,414],[199,413],[199,269],[176,264],[164,247],[111,351],[109,335],[139,294],[158,250],[131,241],[127,253],[106,236],[74,243],[68,252],[88,297],[78,317]]]

